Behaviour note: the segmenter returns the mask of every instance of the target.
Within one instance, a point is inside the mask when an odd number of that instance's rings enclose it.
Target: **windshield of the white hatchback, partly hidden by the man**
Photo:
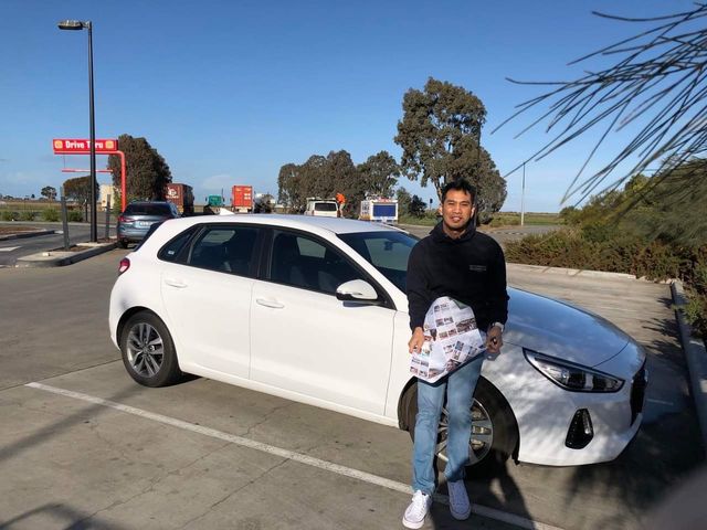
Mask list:
[[[358,252],[403,293],[408,276],[408,256],[418,239],[397,231],[339,234],[339,239]]]

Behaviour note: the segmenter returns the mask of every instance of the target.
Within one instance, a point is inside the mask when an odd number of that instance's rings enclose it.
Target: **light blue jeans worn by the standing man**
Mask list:
[[[418,416],[412,452],[413,491],[419,489],[428,495],[434,492],[436,477],[433,463],[445,394],[449,415],[446,439],[449,462],[444,475],[449,483],[464,478],[472,436],[472,402],[483,363],[484,354],[481,354],[433,384],[418,381]]]

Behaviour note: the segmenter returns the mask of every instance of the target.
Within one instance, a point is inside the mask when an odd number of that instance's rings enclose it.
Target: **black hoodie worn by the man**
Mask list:
[[[441,296],[472,306],[482,331],[492,322],[506,324],[508,318],[504,252],[471,225],[455,240],[439,223],[412,248],[407,292],[413,330],[422,327],[428,309]]]

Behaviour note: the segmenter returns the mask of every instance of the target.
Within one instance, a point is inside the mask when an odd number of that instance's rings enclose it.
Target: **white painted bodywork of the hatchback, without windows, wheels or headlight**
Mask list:
[[[336,296],[265,279],[158,259],[172,237],[197,224],[245,223],[314,234],[355,262],[392,305],[347,304]],[[404,293],[337,233],[394,231],[360,221],[295,215],[188,218],[160,226],[127,257],[110,295],[110,336],[135,308],[148,308],[169,329],[183,372],[391,426],[402,426],[400,399],[411,383]],[[236,296],[238,294],[238,296]],[[615,458],[641,424],[632,381],[645,353],[615,326],[566,304],[509,289],[509,318],[499,356],[482,375],[505,398],[518,427],[517,459],[581,465]],[[624,380],[616,392],[572,392],[528,362],[524,348]],[[566,445],[578,410],[588,410],[593,438]]]

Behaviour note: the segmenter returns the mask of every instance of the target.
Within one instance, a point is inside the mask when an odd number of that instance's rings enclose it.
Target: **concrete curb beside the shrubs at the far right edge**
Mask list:
[[[707,351],[705,343],[693,336],[693,328],[683,315],[682,309],[687,304],[687,299],[679,279],[671,284],[671,293],[676,306],[675,315],[687,360],[693,400],[695,400],[697,420],[703,435],[703,448],[707,452]]]

